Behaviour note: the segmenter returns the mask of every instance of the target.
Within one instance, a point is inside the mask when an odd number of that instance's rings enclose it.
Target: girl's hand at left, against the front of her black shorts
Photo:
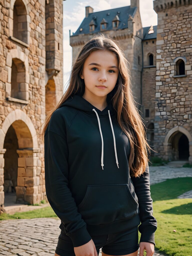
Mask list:
[[[98,256],[93,239],[86,244],[74,247],[74,252],[76,256]]]

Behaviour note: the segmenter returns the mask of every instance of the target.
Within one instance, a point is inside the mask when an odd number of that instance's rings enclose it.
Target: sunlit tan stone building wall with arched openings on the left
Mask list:
[[[16,202],[36,204],[46,199],[44,143],[39,133],[46,120],[46,107],[52,109],[63,94],[63,6],[61,0],[0,3],[0,212],[3,212],[4,169],[6,191],[10,192],[11,187],[16,191]],[[50,80],[56,99],[52,108],[46,90]],[[11,143],[14,145],[10,150]]]

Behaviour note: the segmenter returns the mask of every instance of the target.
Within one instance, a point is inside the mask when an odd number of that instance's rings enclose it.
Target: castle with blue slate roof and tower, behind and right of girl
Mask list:
[[[151,155],[192,163],[192,1],[156,0],[158,25],[142,27],[139,0],[93,12],[70,35],[73,61],[98,34],[118,41],[130,63],[132,91]]]

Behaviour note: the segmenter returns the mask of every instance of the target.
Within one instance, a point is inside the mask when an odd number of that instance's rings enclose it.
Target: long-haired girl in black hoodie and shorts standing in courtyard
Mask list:
[[[127,63],[111,38],[89,40],[44,126],[46,195],[61,220],[55,255],[154,253],[150,146]]]

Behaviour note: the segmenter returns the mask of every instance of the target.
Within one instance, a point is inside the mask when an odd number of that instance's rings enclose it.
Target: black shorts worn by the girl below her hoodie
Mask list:
[[[92,236],[97,253],[101,250],[109,255],[126,255],[139,249],[138,226],[129,230]],[[60,256],[75,256],[73,243],[69,236],[61,230],[55,252]]]

